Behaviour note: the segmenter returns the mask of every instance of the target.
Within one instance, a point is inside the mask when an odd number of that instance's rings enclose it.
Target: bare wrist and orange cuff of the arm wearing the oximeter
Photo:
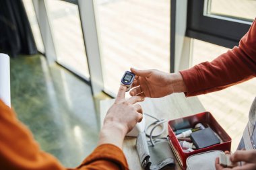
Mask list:
[[[102,130],[100,130],[98,146],[79,167],[72,170],[129,169],[122,151],[123,140],[126,134],[123,127],[119,122],[104,122]]]

